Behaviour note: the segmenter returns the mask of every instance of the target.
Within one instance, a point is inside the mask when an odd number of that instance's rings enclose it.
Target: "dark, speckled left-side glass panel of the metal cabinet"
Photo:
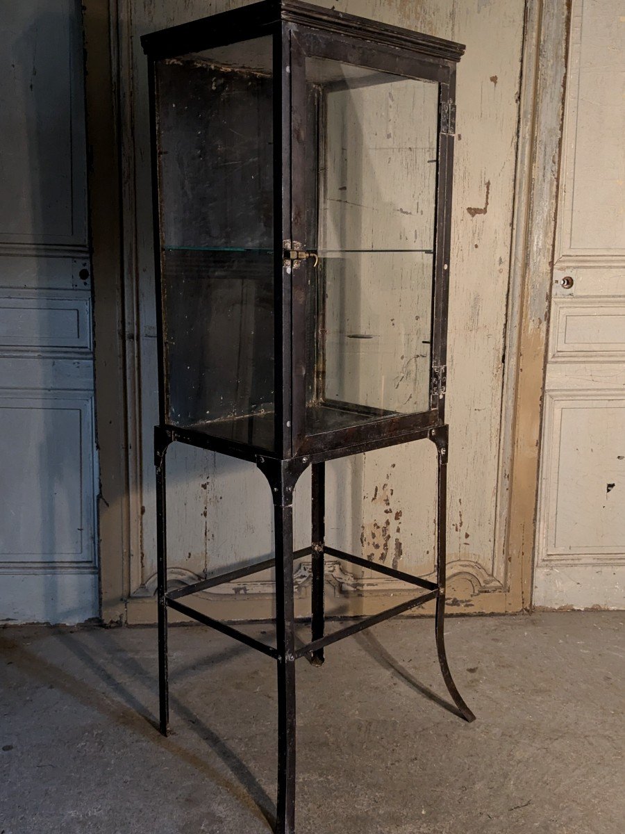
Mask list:
[[[272,449],[272,38],[156,80],[168,421]]]

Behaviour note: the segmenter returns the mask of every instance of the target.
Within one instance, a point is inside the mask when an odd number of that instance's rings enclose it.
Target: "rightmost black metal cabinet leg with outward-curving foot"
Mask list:
[[[451,671],[445,651],[445,581],[447,566],[447,459],[448,459],[448,430],[444,426],[441,433],[433,434],[433,440],[438,448],[438,596],[436,598],[436,647],[438,651],[438,662],[443,672],[443,680],[448,688],[453,702],[458,706],[458,711],[465,721],[475,721],[473,712],[463,701],[463,696],[458,692],[453,682]]]

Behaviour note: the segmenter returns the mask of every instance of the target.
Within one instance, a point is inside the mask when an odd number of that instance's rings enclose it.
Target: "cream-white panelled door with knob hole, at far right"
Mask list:
[[[625,608],[625,4],[573,0],[534,604]]]

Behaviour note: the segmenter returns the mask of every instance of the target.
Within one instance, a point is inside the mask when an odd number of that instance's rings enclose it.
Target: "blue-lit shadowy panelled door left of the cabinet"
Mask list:
[[[79,0],[0,7],[0,620],[97,615]]]

